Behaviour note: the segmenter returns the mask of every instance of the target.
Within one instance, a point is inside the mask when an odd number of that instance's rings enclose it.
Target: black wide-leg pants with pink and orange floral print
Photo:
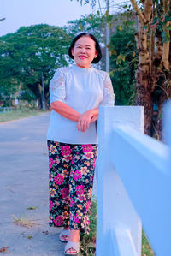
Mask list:
[[[73,145],[48,140],[50,166],[50,226],[89,232],[89,209],[97,145]]]

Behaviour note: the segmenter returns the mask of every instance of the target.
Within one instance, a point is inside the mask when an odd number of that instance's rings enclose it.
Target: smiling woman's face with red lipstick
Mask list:
[[[95,41],[88,36],[83,36],[75,42],[71,52],[77,66],[90,68],[92,60],[97,57],[95,44]]]

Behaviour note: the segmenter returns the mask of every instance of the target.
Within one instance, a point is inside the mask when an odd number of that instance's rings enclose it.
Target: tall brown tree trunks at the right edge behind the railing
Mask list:
[[[141,6],[135,0],[131,3],[139,25],[135,34],[139,51],[136,103],[144,105],[145,133],[151,135],[154,128],[161,139],[162,105],[171,97],[170,2],[145,0]],[[153,119],[154,104],[156,120]]]

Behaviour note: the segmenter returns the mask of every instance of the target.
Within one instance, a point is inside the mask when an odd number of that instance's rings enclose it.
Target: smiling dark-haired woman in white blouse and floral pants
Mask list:
[[[75,64],[58,68],[50,81],[50,226],[63,227],[66,255],[80,250],[80,231],[88,233],[97,158],[99,105],[113,105],[109,74],[91,67],[102,57],[97,39],[77,35],[68,51]]]

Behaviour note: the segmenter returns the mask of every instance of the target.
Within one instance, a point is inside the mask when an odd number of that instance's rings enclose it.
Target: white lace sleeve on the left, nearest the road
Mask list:
[[[61,70],[56,69],[52,80],[50,80],[50,103],[54,101],[64,101],[66,96],[65,92],[65,74]]]

